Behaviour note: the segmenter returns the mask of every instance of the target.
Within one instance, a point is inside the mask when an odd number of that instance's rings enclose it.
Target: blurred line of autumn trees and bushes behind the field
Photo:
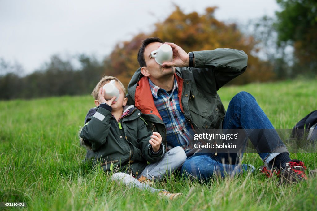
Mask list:
[[[0,58],[0,99],[38,98],[90,93],[102,75],[118,77],[125,86],[139,67],[137,53],[143,39],[158,36],[175,42],[186,52],[236,48],[248,54],[248,68],[230,84],[246,84],[317,73],[317,3],[314,0],[277,0],[282,10],[276,18],[264,16],[248,26],[218,21],[216,7],[204,14],[185,14],[178,6],[151,33],[140,33],[118,43],[103,61],[76,56],[80,64],[53,55],[35,72],[21,76],[19,64]],[[249,29],[249,32],[248,32]],[[288,51],[293,51],[289,53]]]

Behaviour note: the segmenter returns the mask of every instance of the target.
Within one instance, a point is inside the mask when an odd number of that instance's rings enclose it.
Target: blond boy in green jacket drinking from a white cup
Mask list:
[[[116,81],[120,91],[117,101],[116,97],[104,98],[102,87],[111,80]],[[94,165],[101,162],[104,171],[118,171],[113,180],[173,199],[181,193],[171,194],[147,183],[153,178],[161,180],[166,172],[178,169],[186,159],[185,152],[178,147],[165,153],[161,135],[147,129],[141,112],[133,105],[126,105],[125,94],[123,84],[111,76],[104,76],[94,88],[92,95],[97,107],[88,111],[80,132],[81,143],[88,147],[86,159],[93,159]]]

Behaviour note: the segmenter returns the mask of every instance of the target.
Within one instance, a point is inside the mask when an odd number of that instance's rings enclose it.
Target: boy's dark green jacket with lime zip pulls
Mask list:
[[[147,162],[159,161],[165,149],[161,145],[159,152],[152,151],[152,131],[147,129],[137,108],[126,106],[124,111],[128,113],[119,121],[111,110],[109,105],[100,104],[87,113],[80,131],[81,143],[88,147],[86,160],[93,159],[94,165],[101,165],[104,171],[131,172],[137,176]]]

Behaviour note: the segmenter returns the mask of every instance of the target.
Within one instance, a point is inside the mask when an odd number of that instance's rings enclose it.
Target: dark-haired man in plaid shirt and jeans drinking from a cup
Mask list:
[[[263,130],[262,137],[269,139],[258,140],[258,134],[247,132],[266,164],[260,171],[268,176],[275,173],[284,181],[307,179],[306,167],[290,159],[285,144],[252,95],[238,93],[225,112],[217,90],[246,70],[248,58],[243,51],[217,48],[187,54],[176,44],[166,43],[173,50],[174,60],[159,65],[151,52],[163,43],[158,37],[142,42],[140,68],[128,85],[127,97],[141,110],[148,126],[154,125],[161,133],[167,150],[182,146],[189,152],[190,129],[273,129]],[[243,170],[237,165],[240,159],[237,153],[195,153],[187,157],[182,172],[200,180],[236,174]]]

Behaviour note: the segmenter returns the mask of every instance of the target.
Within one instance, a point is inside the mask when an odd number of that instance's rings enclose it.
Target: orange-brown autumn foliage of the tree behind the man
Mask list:
[[[233,82],[244,84],[253,81],[267,81],[273,78],[272,67],[252,56],[256,42],[252,36],[243,35],[236,24],[225,24],[214,17],[216,7],[206,8],[205,14],[197,12],[184,14],[178,6],[163,22],[155,24],[151,34],[139,34],[131,41],[117,44],[110,55],[106,74],[113,74],[127,85],[139,64],[137,54],[141,42],[147,37],[157,36],[164,42],[174,42],[186,52],[212,50],[215,48],[235,48],[248,54],[247,71]]]

